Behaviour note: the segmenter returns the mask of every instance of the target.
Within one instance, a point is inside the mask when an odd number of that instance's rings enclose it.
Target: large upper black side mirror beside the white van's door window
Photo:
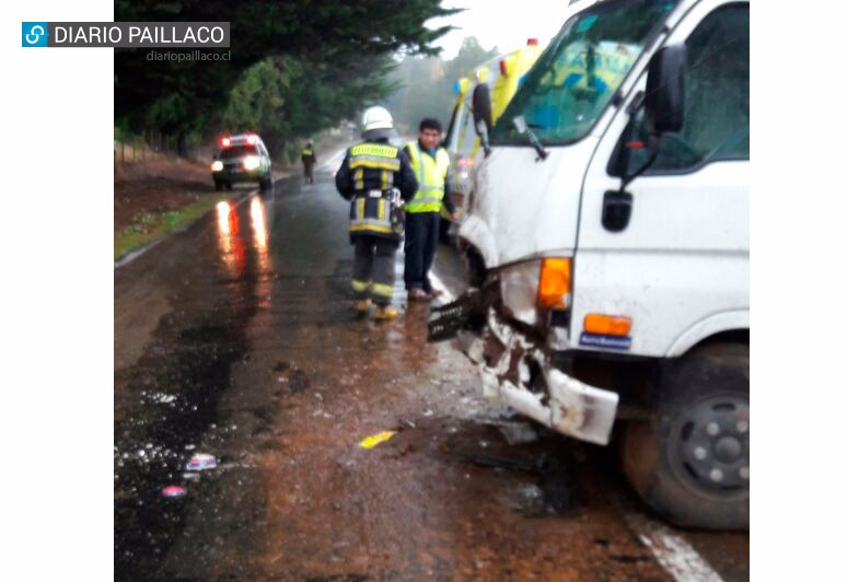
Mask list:
[[[660,48],[647,71],[645,116],[655,136],[680,131],[685,112],[685,46]]]

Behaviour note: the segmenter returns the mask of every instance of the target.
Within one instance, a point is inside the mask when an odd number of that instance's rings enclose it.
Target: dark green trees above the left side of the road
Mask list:
[[[386,100],[393,56],[436,57],[441,0],[115,0],[123,22],[230,22],[229,60],[149,60],[115,49],[115,126],[166,136],[178,153],[223,131],[257,130],[271,154]]]

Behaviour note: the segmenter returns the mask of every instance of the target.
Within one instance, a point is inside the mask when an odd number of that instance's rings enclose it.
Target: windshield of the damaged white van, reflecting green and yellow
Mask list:
[[[492,144],[526,144],[522,115],[547,146],[583,138],[677,0],[604,2],[569,19],[491,131]]]

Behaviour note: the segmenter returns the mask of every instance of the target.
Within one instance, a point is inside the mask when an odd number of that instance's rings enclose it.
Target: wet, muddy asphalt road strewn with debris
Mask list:
[[[666,528],[614,451],[483,400],[425,305],[358,318],[346,217],[332,174],[289,178],[116,269],[117,579],[749,578],[745,534]]]

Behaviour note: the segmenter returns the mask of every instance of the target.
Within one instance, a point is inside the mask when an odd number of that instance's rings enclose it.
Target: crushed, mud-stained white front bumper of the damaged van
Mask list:
[[[535,342],[488,307],[481,333],[457,331],[462,351],[477,364],[483,393],[550,429],[608,444],[618,395],[576,380],[550,363]]]

